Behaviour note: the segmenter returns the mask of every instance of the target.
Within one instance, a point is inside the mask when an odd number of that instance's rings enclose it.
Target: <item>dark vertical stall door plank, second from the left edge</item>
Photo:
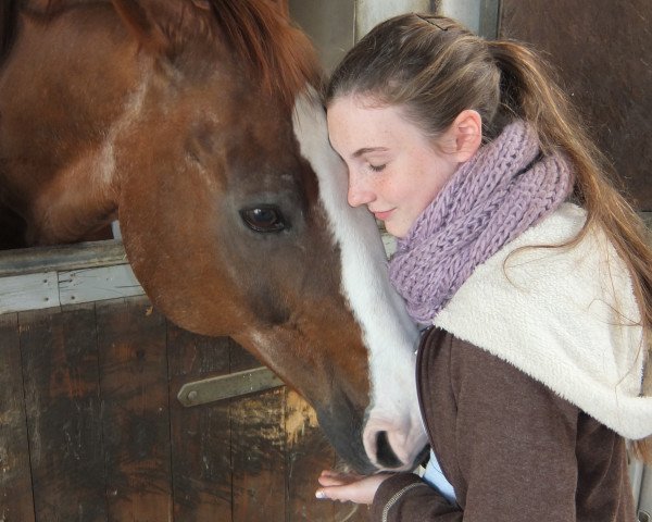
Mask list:
[[[18,321],[36,520],[105,521],[95,307]]]

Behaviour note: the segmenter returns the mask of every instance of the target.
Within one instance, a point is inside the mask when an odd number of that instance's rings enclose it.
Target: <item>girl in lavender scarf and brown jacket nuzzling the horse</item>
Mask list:
[[[399,238],[391,281],[429,326],[432,451],[424,478],[325,471],[317,497],[383,521],[635,520],[652,251],[541,60],[401,15],[347,54],[326,105],[349,202]]]

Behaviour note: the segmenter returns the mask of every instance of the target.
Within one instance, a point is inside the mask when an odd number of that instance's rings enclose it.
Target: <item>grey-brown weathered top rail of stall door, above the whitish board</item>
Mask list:
[[[32,247],[0,252],[0,277],[124,264],[127,256],[120,240]]]

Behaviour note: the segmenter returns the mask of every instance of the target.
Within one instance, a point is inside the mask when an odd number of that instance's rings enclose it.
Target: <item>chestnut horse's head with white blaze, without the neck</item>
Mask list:
[[[95,46],[120,47],[89,86],[111,89],[95,183],[152,303],[254,353],[359,471],[412,469],[417,331],[373,216],[347,204],[305,36],[263,0],[72,3],[60,25],[78,16],[79,36],[102,16]]]

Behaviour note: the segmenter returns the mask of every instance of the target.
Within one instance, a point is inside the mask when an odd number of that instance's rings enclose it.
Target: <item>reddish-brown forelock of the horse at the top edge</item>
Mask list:
[[[289,107],[310,83],[321,88],[319,61],[309,38],[292,26],[278,2],[210,0],[215,22],[234,52],[261,75],[262,85]]]

